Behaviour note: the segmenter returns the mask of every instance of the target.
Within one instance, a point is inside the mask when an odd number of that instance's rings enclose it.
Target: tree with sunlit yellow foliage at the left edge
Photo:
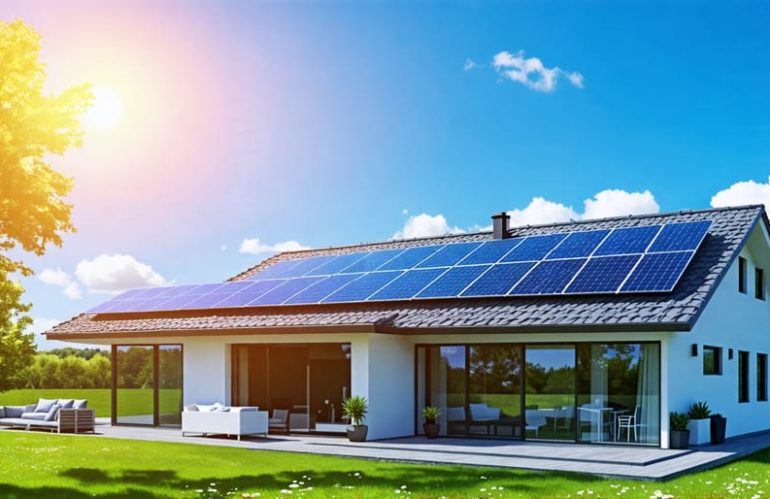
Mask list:
[[[87,85],[44,95],[40,36],[22,21],[0,22],[0,391],[34,352],[30,305],[14,274],[32,275],[19,250],[42,255],[75,230],[65,201],[72,179],[53,169],[50,155],[80,144],[79,118],[91,103]]]

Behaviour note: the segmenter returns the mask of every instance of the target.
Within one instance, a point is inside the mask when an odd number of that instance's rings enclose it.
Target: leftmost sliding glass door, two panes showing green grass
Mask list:
[[[181,345],[113,345],[112,423],[180,426]]]

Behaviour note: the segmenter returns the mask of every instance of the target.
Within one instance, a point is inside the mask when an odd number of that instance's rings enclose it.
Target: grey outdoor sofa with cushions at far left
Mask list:
[[[96,418],[94,410],[86,405],[86,400],[40,399],[37,404],[0,406],[0,425],[57,433],[93,433]]]

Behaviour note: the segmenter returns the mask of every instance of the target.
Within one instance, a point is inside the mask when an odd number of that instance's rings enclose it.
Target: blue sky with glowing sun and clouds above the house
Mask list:
[[[494,212],[770,206],[759,2],[0,0],[17,18],[48,91],[89,82],[111,111],[52,158],[78,232],[25,257],[38,332],[127,288]]]

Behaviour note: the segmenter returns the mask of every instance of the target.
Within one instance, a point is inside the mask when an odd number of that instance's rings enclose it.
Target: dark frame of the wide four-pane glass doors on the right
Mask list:
[[[578,416],[578,397],[580,396],[578,384],[579,384],[579,373],[578,373],[578,347],[580,345],[606,345],[606,344],[634,344],[634,345],[649,345],[649,344],[655,344],[658,345],[658,417],[660,418],[659,421],[659,428],[658,428],[658,445],[640,445],[640,444],[625,444],[622,442],[591,442],[591,441],[584,441],[580,440],[580,424],[579,424],[579,416]],[[454,346],[454,347],[463,347],[465,348],[465,431],[462,435],[442,435],[442,438],[495,438],[495,437],[486,437],[483,435],[471,435],[469,434],[469,422],[470,422],[470,415],[468,410],[468,404],[469,402],[469,391],[470,391],[470,356],[468,355],[469,349],[473,346],[495,346],[495,345],[514,345],[521,348],[522,352],[522,366],[521,366],[521,425],[520,425],[520,434],[521,437],[512,437],[512,438],[506,438],[506,440],[517,440],[517,441],[534,441],[534,442],[550,442],[550,443],[577,443],[581,445],[612,445],[617,447],[633,447],[633,448],[662,448],[663,446],[663,438],[661,437],[663,424],[663,394],[662,394],[662,386],[663,386],[663,348],[662,348],[662,342],[660,340],[604,340],[604,341],[537,341],[537,342],[462,342],[462,343],[415,343],[414,345],[414,407],[415,407],[415,413],[414,413],[414,434],[415,435],[422,435],[420,432],[420,421],[421,421],[421,414],[418,414],[417,408],[420,406],[420,400],[419,400],[419,355],[418,355],[418,349],[423,348],[427,351],[427,348],[433,347],[433,348],[440,348],[443,346]],[[526,362],[526,349],[528,346],[536,346],[536,347],[548,347],[548,346],[556,346],[556,345],[565,345],[565,346],[571,346],[574,350],[575,355],[575,394],[574,394],[574,401],[575,401],[575,438],[573,440],[547,440],[547,439],[531,439],[527,438],[526,431],[525,431],[525,414],[526,414],[526,387],[527,387],[527,362]],[[427,391],[426,391],[427,393]],[[505,438],[505,437],[497,437],[497,438]]]

